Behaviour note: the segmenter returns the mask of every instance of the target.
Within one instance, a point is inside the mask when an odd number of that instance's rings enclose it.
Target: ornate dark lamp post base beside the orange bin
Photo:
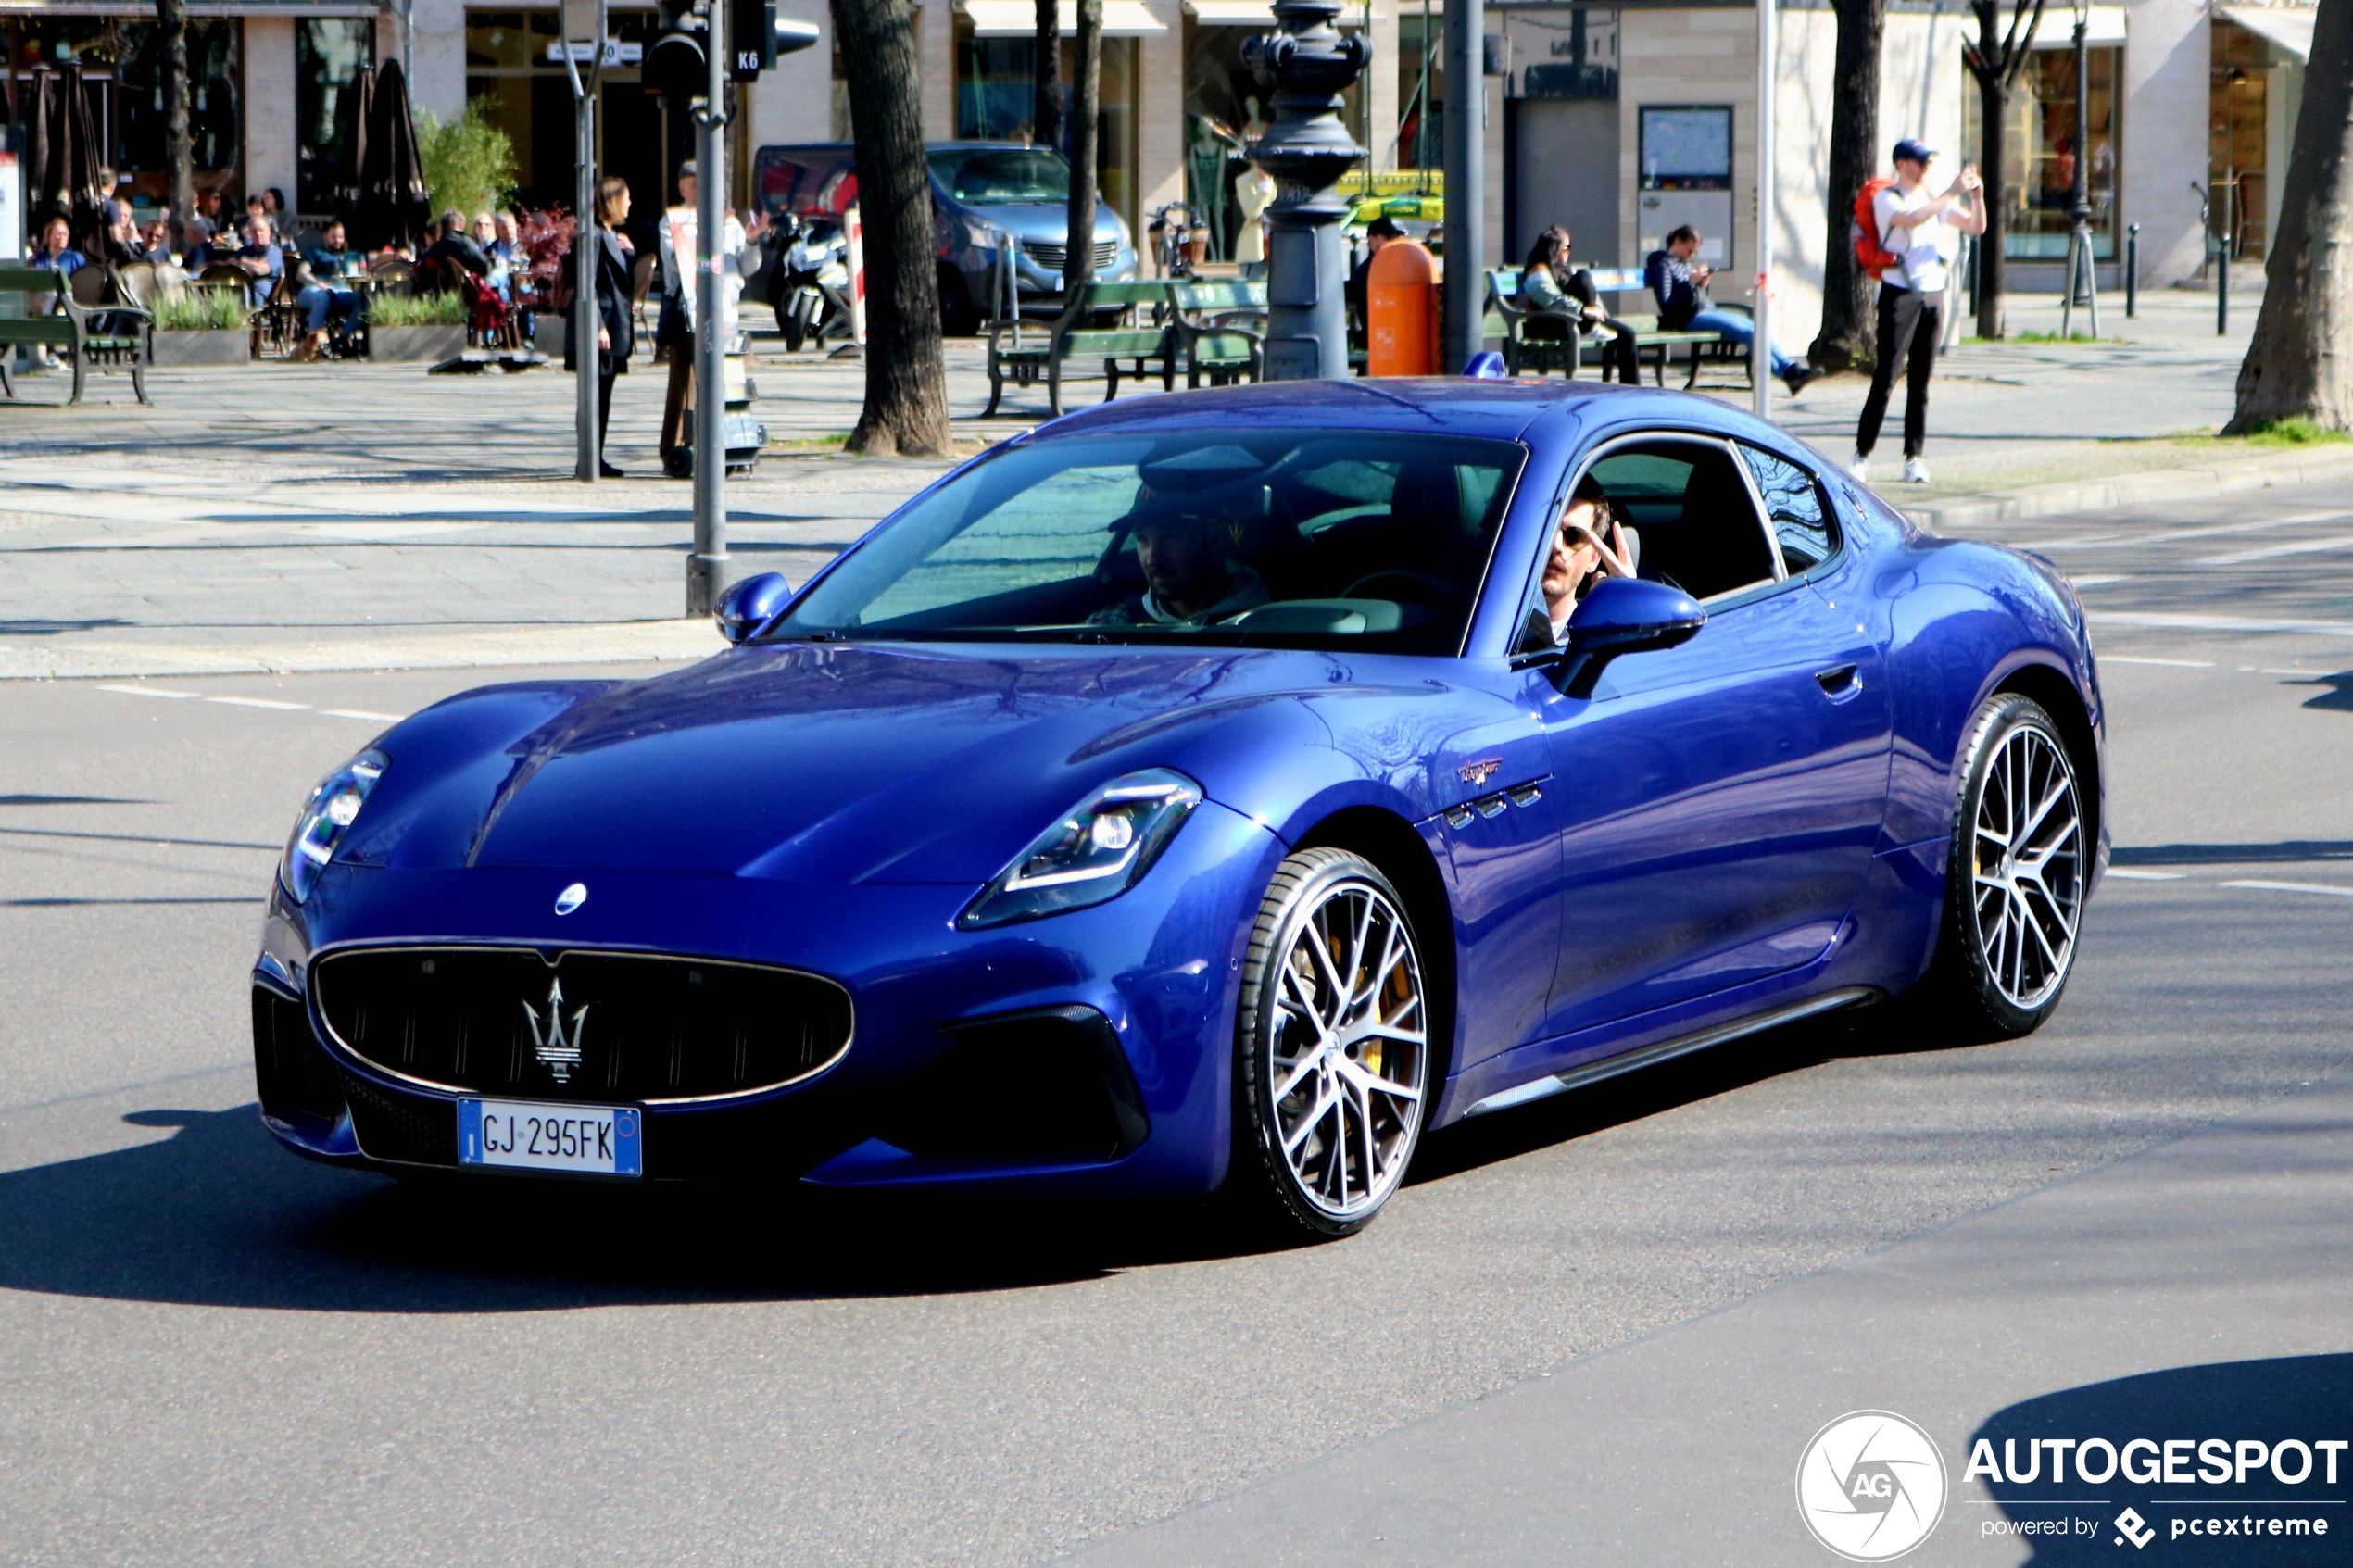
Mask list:
[[[1242,45],[1261,87],[1275,94],[1273,120],[1252,146],[1275,181],[1266,209],[1266,378],[1318,381],[1348,374],[1348,216],[1339,176],[1365,148],[1339,120],[1339,94],[1372,61],[1372,45],[1332,21],[1341,0],[1275,0],[1280,33]]]

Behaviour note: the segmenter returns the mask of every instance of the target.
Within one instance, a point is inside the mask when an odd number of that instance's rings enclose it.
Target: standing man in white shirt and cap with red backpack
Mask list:
[[[1927,484],[1927,465],[1920,463],[1920,449],[1927,444],[1927,378],[1937,369],[1944,287],[1958,254],[1955,235],[1986,233],[1986,202],[1977,195],[1984,181],[1977,179],[1977,165],[1962,165],[1944,195],[1929,195],[1927,174],[1934,162],[1937,153],[1906,136],[1894,148],[1897,176],[1875,179],[1854,197],[1854,259],[1880,280],[1880,357],[1871,371],[1864,421],[1854,430],[1854,458],[1847,463],[1857,480],[1868,477],[1897,362],[1908,357],[1904,482]]]

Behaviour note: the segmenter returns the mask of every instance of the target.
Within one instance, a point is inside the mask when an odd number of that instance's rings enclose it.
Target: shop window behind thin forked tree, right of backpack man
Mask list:
[[[2118,127],[2118,80],[2125,52],[2089,49],[2092,106],[2092,254],[2113,261],[2122,216],[2122,136]],[[1977,80],[1962,85],[1962,146],[1984,146],[1984,108]],[[2002,190],[2007,202],[2002,254],[2014,261],[2064,261],[2075,226],[2075,49],[2035,49],[2009,96],[2002,136]]]

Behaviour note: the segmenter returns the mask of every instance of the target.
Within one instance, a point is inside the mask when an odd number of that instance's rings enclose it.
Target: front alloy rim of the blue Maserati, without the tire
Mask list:
[[[1332,1220],[1372,1213],[1405,1178],[1428,1079],[1421,954],[1391,898],[1322,891],[1292,931],[1268,1032],[1282,1161]]]

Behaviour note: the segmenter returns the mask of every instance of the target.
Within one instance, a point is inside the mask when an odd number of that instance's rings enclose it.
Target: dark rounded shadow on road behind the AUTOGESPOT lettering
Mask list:
[[[1993,1443],[1993,1458],[2007,1465],[2007,1474],[1986,1483],[2002,1512],[2019,1526],[2073,1519],[2075,1528],[2064,1535],[2028,1535],[2035,1568],[2059,1568],[2064,1563],[2115,1563],[2118,1516],[2129,1507],[2153,1528],[2151,1544],[2167,1554],[2188,1554],[2202,1563],[2344,1563],[2353,1547],[2353,1465],[2344,1450],[2337,1453],[2337,1481],[2329,1481],[2329,1455],[2311,1448],[2315,1439],[2341,1439],[2346,1413],[2353,1410],[2353,1354],[2337,1356],[2280,1356],[2273,1361],[2224,1361],[2209,1366],[2177,1366],[2162,1373],[2094,1382],[2080,1389],[2042,1394],[1998,1410],[1984,1427],[1969,1434],[1969,1448],[1979,1441]],[[2219,1436],[2228,1441],[2233,1458],[2231,1479],[2212,1481],[2214,1467],[2202,1462],[2198,1441]],[[2071,1462],[2064,1481],[2054,1479],[2052,1450],[2035,1448],[2040,1439],[2104,1439],[2118,1450],[2118,1469],[2106,1481],[2087,1481]],[[2158,1460],[2158,1481],[2132,1481],[2125,1474],[2122,1450],[2132,1439],[2158,1443],[2158,1453],[2139,1450],[2129,1460],[2132,1474],[2151,1474]],[[2198,1439],[2177,1448],[2174,1481],[2162,1481],[2162,1443],[2167,1439]],[[2238,1448],[2240,1439],[2252,1439],[2266,1453]],[[2287,1439],[2294,1439],[2289,1443]],[[2287,1448],[2280,1455],[2280,1472],[2271,1469],[2271,1446]],[[2301,1453],[2297,1450],[2301,1443]],[[2252,1460],[2245,1483],[2238,1481],[2235,1460]],[[2094,1450],[2094,1474],[2108,1465],[2108,1455]],[[2200,1474],[2205,1472],[2205,1474]],[[2009,1474],[2028,1474],[2031,1481],[2009,1481]],[[2184,1479],[2188,1476],[2188,1479]],[[2285,1476],[2301,1476],[2289,1483]],[[2061,1507],[2059,1500],[2080,1502]],[[2097,1507],[2092,1507],[2097,1502]],[[2174,1535],[2177,1519],[2219,1519],[2233,1530],[2207,1537]],[[2282,1521],[2282,1533],[2271,1533],[2271,1519]],[[2301,1519],[2311,1530],[2325,1519],[2327,1533],[2287,1533],[2287,1521]],[[2094,1526],[2085,1530],[2082,1526]],[[2252,1523],[2252,1528],[2249,1528]],[[2127,1552],[2129,1556],[2129,1552]]]

